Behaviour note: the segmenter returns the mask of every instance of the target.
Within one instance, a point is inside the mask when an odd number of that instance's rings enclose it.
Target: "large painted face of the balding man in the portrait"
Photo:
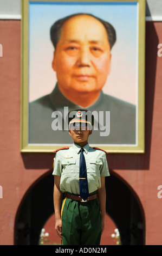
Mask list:
[[[53,59],[60,89],[99,92],[110,68],[110,46],[102,23],[88,15],[66,21]]]

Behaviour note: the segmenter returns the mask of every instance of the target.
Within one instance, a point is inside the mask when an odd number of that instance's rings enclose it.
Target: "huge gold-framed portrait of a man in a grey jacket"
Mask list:
[[[27,2],[21,150],[71,145],[68,112],[87,109],[90,145],[144,153],[144,1]]]

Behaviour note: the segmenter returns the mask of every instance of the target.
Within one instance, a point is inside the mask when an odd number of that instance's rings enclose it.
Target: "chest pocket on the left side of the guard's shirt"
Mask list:
[[[66,177],[75,176],[76,173],[74,172],[76,167],[75,159],[65,159],[62,161],[62,175]]]

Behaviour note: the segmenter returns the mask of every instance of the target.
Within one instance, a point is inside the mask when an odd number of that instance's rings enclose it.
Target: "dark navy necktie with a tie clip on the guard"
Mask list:
[[[85,156],[83,155],[83,151],[84,149],[81,148],[80,170],[79,170],[79,190],[80,190],[80,197],[83,200],[86,200],[89,197],[89,191],[88,191],[88,181],[87,181],[86,160],[85,160]]]

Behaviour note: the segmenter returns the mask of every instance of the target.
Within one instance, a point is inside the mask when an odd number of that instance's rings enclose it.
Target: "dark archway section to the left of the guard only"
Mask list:
[[[48,171],[25,193],[15,218],[15,245],[38,245],[41,229],[54,213],[54,177]]]

